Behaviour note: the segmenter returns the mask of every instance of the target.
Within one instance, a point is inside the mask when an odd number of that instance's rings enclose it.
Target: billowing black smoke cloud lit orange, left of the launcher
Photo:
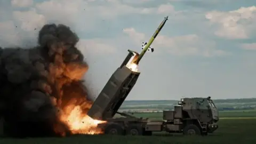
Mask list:
[[[59,111],[72,98],[72,87],[82,91],[80,97],[87,95],[81,79],[88,65],[75,47],[78,41],[69,27],[51,24],[39,31],[36,47],[0,47],[0,116],[5,135],[69,133],[59,121]]]

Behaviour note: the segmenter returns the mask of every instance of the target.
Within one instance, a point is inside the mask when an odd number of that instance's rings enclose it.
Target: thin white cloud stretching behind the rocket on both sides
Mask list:
[[[134,28],[125,28],[123,31],[125,34],[129,35],[136,44],[140,44],[146,39],[145,34],[139,33]],[[158,35],[153,45],[156,49],[163,49],[174,55],[203,55],[204,57],[213,57],[227,54],[222,50],[215,49],[214,42],[207,41],[197,35],[175,37]]]

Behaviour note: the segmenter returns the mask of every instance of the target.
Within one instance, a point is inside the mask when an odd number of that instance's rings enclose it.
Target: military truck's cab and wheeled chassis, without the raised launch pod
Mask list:
[[[107,119],[100,124],[105,134],[151,135],[152,132],[165,131],[186,135],[207,135],[218,129],[218,109],[210,97],[184,98],[174,106],[174,110],[163,111],[162,121],[150,121],[148,118],[125,117]]]

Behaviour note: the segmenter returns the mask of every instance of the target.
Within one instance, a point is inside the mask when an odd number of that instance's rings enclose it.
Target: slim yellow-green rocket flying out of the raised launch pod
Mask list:
[[[143,55],[147,52],[148,48],[150,47],[150,45],[153,43],[153,41],[155,40],[156,36],[158,35],[158,33],[161,31],[161,29],[164,27],[165,22],[168,20],[168,16],[164,18],[164,20],[160,23],[160,25],[158,26],[158,28],[156,29],[155,33],[153,36],[151,36],[151,38],[149,39],[147,45],[144,47],[144,49],[141,51],[139,57],[137,60],[134,61],[135,64],[139,64],[140,60],[142,59]]]

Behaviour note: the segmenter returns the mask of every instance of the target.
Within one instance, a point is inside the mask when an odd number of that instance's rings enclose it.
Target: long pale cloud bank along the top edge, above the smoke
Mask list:
[[[29,1],[14,2],[24,5],[25,2],[28,4]],[[63,23],[70,27],[89,30],[95,28],[95,21],[101,19],[114,19],[129,14],[165,15],[170,13],[175,13],[171,4],[162,4],[156,7],[138,7],[122,3],[119,0],[46,0],[35,2],[27,13],[15,11],[13,16],[15,20],[18,19],[22,22],[22,27],[26,30],[32,30],[31,27],[34,25],[40,26],[40,23],[43,25],[45,22]]]

